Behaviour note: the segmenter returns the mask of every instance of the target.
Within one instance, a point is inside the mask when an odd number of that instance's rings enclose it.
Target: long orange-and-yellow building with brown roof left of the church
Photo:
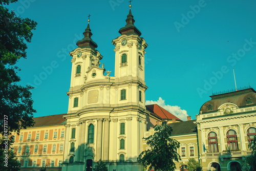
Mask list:
[[[20,170],[61,170],[63,161],[66,120],[63,114],[33,118],[33,127],[13,133],[14,154],[21,164]]]

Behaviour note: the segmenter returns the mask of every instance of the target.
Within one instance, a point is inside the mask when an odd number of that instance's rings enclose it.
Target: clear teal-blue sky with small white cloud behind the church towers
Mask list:
[[[35,117],[68,111],[71,57],[87,27],[103,55],[101,63],[114,76],[111,41],[125,26],[129,3],[124,0],[23,0],[9,5],[38,25],[28,44],[27,59],[17,66],[21,84],[32,91]],[[148,47],[145,56],[147,103],[158,102],[172,113],[192,119],[212,92],[237,87],[256,89],[256,1],[136,1],[135,26]],[[47,70],[47,72],[46,72]]]

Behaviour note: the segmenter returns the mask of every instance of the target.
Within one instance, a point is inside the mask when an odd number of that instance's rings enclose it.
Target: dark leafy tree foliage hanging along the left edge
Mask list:
[[[20,86],[16,62],[26,58],[36,22],[17,16],[6,7],[17,0],[0,1],[0,134],[11,134],[33,125],[33,100],[30,86]],[[7,126],[8,125],[8,126]],[[7,131],[8,127],[8,131]]]

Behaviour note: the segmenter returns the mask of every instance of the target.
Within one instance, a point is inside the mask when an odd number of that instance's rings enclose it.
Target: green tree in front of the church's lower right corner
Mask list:
[[[156,126],[155,134],[145,139],[151,149],[143,151],[138,157],[138,162],[150,169],[154,167],[155,170],[175,170],[174,160],[177,162],[181,160],[177,153],[180,143],[170,138],[172,131],[172,127],[165,121],[162,125]]]

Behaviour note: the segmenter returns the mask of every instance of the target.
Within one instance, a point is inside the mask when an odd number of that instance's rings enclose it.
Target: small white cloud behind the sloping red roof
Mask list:
[[[149,104],[158,104],[160,105],[163,109],[165,109],[166,111],[170,112],[171,114],[177,116],[178,118],[180,118],[181,120],[185,121],[187,120],[187,111],[180,109],[180,106],[177,105],[169,105],[169,104],[165,104],[164,100],[159,97],[159,99],[157,101],[153,101],[153,100],[146,100],[146,105]]]

